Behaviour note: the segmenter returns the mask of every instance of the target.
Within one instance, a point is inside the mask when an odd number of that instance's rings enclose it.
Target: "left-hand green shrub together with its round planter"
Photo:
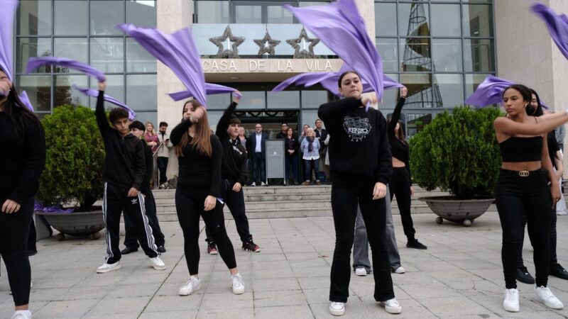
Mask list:
[[[35,213],[60,231],[60,240],[63,234],[98,239],[105,224],[101,207],[93,205],[103,195],[104,145],[94,111],[58,106],[41,122],[48,148],[37,198],[45,209]]]

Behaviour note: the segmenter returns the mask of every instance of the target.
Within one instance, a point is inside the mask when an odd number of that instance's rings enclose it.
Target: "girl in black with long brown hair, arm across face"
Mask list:
[[[183,231],[185,260],[190,270],[190,280],[180,288],[180,296],[200,289],[200,216],[229,268],[233,293],[244,293],[233,245],[226,235],[222,198],[219,198],[223,150],[219,138],[211,133],[205,108],[197,100],[185,102],[183,121],[172,130],[170,140],[180,165],[175,209]]]

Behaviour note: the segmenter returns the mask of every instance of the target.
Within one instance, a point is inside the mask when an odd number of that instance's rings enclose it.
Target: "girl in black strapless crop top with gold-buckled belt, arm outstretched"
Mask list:
[[[550,210],[560,198],[560,193],[543,136],[567,123],[568,113],[539,118],[528,116],[525,108],[531,99],[531,91],[526,86],[509,86],[503,91],[507,117],[498,117],[493,122],[503,157],[497,181],[496,204],[503,228],[501,259],[506,284],[503,308],[510,312],[519,310],[515,278],[519,246],[523,245],[523,219],[527,221],[530,242],[534,248],[537,300],[550,308],[564,307],[547,288]],[[551,186],[548,185],[547,174]]]

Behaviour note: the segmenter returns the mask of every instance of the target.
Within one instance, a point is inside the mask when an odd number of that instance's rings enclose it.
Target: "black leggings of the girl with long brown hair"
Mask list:
[[[175,210],[178,211],[178,220],[183,231],[183,247],[185,261],[190,275],[199,274],[200,268],[200,216],[209,228],[213,240],[217,243],[219,254],[226,267],[236,267],[235,252],[229,236],[226,235],[223,218],[223,204],[217,201],[217,205],[211,211],[204,211],[203,206],[207,198],[209,185],[195,187],[180,186],[175,189]]]

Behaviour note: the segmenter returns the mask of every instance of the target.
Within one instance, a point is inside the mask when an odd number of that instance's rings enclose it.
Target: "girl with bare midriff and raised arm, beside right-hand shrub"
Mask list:
[[[416,230],[413,227],[413,218],[410,216],[410,196],[414,194],[410,179],[410,149],[404,138],[403,127],[400,125],[400,113],[403,111],[407,94],[408,89],[405,87],[400,89],[400,99],[391,120],[388,121],[388,142],[391,144],[393,155],[393,176],[388,186],[391,189],[391,202],[393,196],[396,196],[400,220],[403,222],[404,235],[407,238],[406,247],[425,250],[427,247],[414,237]]]

